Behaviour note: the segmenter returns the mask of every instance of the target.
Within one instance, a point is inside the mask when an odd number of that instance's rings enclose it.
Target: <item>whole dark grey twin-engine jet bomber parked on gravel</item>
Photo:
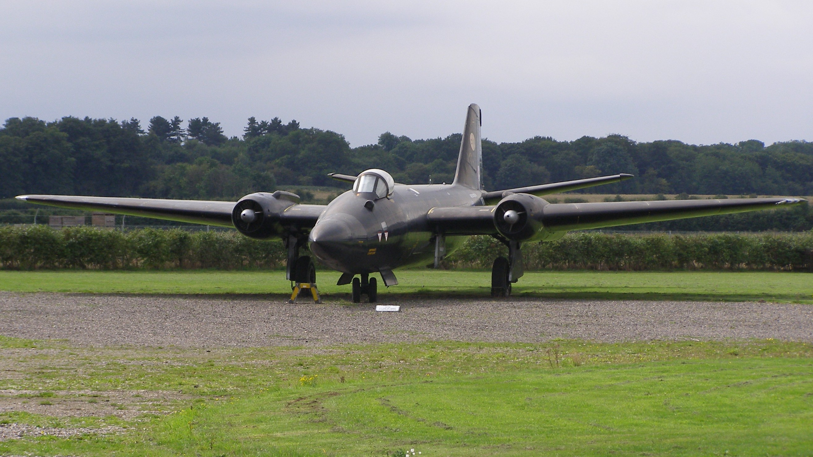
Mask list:
[[[463,141],[451,184],[400,184],[372,168],[359,176],[331,173],[353,189],[328,205],[300,203],[282,190],[248,194],[237,202],[20,195],[20,200],[54,207],[109,211],[196,224],[234,227],[263,240],[282,240],[288,251],[285,276],[315,283],[310,256],[341,272],[337,285],[352,285],[353,301],[376,302],[378,273],[386,286],[398,284],[393,269],[434,266],[472,235],[490,235],[506,246],[491,269],[491,294],[511,295],[523,276],[522,245],[557,240],[570,230],[640,224],[703,215],[790,207],[800,198],[730,198],[655,202],[550,203],[542,196],[632,178],[617,174],[576,181],[486,191],[482,184],[480,107],[468,107]]]

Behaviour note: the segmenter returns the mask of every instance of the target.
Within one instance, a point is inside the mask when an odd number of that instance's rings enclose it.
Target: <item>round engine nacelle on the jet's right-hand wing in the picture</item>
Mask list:
[[[510,194],[497,203],[494,225],[509,240],[523,242],[542,238],[545,233],[541,223],[542,209],[548,204],[531,194]]]

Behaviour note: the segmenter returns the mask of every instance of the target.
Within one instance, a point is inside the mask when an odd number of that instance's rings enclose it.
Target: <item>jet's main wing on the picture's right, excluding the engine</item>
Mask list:
[[[801,198],[729,198],[721,200],[668,200],[654,202],[547,203],[533,219],[546,233],[641,224],[789,207]],[[437,207],[428,211],[430,225],[449,235],[497,235],[496,206]],[[546,237],[554,239],[554,237]]]

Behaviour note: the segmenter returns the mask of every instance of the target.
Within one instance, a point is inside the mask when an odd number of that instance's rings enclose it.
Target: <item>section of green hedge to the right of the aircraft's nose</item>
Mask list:
[[[452,268],[490,268],[506,247],[473,237],[448,259]],[[569,233],[522,246],[528,270],[813,270],[813,233]]]

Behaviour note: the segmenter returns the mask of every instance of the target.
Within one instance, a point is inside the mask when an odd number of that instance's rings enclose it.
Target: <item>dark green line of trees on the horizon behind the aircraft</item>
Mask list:
[[[340,133],[297,121],[251,117],[241,137],[226,137],[207,117],[136,119],[10,118],[0,128],[0,198],[88,194],[233,199],[278,186],[346,187],[328,172],[383,168],[404,183],[450,182],[460,134],[412,140],[382,133],[351,148]],[[622,135],[556,141],[483,141],[487,189],[633,173],[606,185],[624,194],[813,194],[813,142],[765,146],[637,142]]]

